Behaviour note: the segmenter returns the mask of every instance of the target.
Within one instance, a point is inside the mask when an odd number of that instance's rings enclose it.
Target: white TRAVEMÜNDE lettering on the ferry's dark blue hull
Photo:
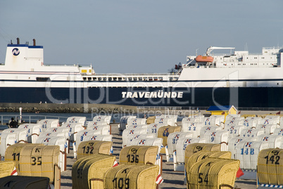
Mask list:
[[[183,92],[122,92],[122,98],[183,98]]]

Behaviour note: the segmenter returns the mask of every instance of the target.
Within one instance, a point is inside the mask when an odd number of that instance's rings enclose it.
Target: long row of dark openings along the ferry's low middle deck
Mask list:
[[[163,81],[163,77],[83,77],[84,81]],[[169,77],[176,81],[178,77]]]

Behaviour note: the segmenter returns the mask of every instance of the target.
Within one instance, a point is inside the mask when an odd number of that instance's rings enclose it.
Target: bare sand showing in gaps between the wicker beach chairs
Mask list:
[[[111,129],[113,135],[113,155],[116,156],[119,162],[120,150],[122,149],[122,136],[119,136],[118,125],[112,124]],[[61,173],[61,188],[72,188],[72,166],[75,162],[73,159],[73,150],[71,148],[67,158],[67,171]],[[174,189],[187,188],[184,184],[184,172],[173,171],[173,162],[166,162],[165,155],[163,155],[163,174],[164,182],[158,188]],[[256,181],[237,179],[235,188],[251,189],[256,188]]]

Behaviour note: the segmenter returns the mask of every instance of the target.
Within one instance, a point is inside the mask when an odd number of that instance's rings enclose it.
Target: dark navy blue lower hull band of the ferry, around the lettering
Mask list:
[[[283,107],[282,87],[241,88],[0,88],[0,103],[109,103],[121,105]],[[182,98],[122,98],[122,92],[180,92]]]

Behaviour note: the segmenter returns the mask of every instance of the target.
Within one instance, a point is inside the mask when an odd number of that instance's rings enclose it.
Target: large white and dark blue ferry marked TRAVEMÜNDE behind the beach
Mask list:
[[[214,54],[230,49],[230,53]],[[0,103],[283,107],[283,48],[260,54],[210,46],[166,74],[97,74],[92,65],[47,65],[35,39],[7,45]]]

